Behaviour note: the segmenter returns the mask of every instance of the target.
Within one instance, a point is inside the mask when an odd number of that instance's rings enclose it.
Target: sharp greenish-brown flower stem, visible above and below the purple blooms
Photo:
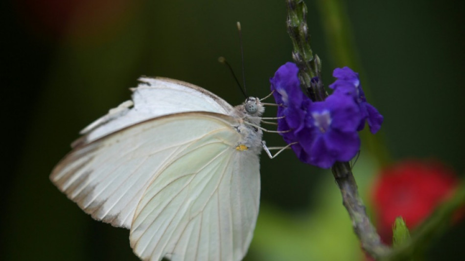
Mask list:
[[[310,81],[312,77],[320,76],[321,66],[318,56],[313,56],[310,47],[305,3],[303,0],[287,0],[287,11],[288,33],[294,46],[292,57],[299,67],[301,84],[306,90],[309,90],[312,100],[324,100],[327,94],[323,90],[323,84],[312,86]],[[360,239],[362,248],[374,258],[386,256],[390,248],[381,242],[376,229],[370,222],[349,163],[334,164],[332,172],[341,190],[344,207],[349,212],[353,229]]]

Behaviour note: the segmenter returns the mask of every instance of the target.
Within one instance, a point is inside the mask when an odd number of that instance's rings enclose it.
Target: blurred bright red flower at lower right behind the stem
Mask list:
[[[409,160],[383,169],[372,190],[382,240],[392,242],[392,226],[397,216],[404,218],[409,229],[415,228],[458,184],[453,170],[436,161]]]

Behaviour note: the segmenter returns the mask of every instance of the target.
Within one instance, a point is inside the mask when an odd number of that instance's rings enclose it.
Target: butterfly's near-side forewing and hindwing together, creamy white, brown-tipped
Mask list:
[[[50,179],[93,218],[130,228],[144,260],[240,260],[260,185],[236,124],[200,112],[146,120],[76,146]]]

